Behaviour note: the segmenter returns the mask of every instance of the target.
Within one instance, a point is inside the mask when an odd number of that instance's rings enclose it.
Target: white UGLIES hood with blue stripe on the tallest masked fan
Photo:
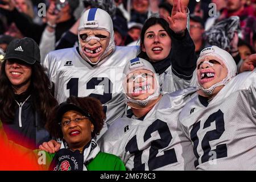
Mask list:
[[[93,8],[93,9],[86,10],[81,15],[78,31],[85,30],[85,29],[105,30],[105,31],[108,31],[109,34],[110,34],[109,45],[106,48],[106,50],[104,51],[104,53],[102,53],[101,57],[98,59],[98,61],[96,63],[92,63],[92,61],[90,61],[89,57],[87,57],[84,54],[84,51],[82,50],[82,46],[80,44],[80,42],[82,42],[82,40],[81,40],[81,38],[78,34],[79,52],[80,52],[82,58],[84,60],[88,61],[90,64],[96,65],[106,55],[108,55],[110,52],[112,52],[115,49],[114,28],[113,28],[112,18],[110,17],[110,15],[106,11],[104,11],[100,8]],[[99,38],[97,38],[95,36],[89,36],[86,39],[86,42],[89,42],[89,40],[91,40],[91,39],[96,39],[96,40],[100,41]]]

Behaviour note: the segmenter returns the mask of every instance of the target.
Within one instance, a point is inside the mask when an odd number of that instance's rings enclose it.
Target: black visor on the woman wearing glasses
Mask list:
[[[61,118],[63,117],[63,114],[65,114],[67,111],[70,111],[70,110],[79,111],[79,113],[81,113],[85,117],[88,117],[90,121],[93,122],[92,117],[90,117],[90,114],[86,110],[82,109],[80,106],[77,106],[76,104],[68,103],[67,101],[62,102],[57,109],[57,115],[56,115],[57,122],[60,123]]]

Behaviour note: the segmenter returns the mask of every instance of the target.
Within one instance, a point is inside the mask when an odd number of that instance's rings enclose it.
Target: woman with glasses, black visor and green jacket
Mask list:
[[[93,139],[100,134],[105,119],[106,115],[101,102],[92,97],[71,96],[56,107],[47,128],[54,137],[63,140],[61,146],[55,140],[51,140],[60,147],[60,150],[55,154],[46,153],[47,162],[51,163],[47,164],[48,169],[55,171],[125,170],[121,159],[115,155],[100,152],[100,147]]]

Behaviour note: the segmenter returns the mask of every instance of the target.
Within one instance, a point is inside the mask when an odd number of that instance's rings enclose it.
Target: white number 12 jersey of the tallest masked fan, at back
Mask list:
[[[107,125],[125,113],[122,93],[122,72],[127,61],[137,56],[138,47],[115,47],[115,51],[92,67],[76,48],[60,49],[48,53],[43,62],[48,77],[55,86],[55,98],[64,102],[71,95],[95,97],[106,111]],[[108,128],[104,125],[101,134]]]

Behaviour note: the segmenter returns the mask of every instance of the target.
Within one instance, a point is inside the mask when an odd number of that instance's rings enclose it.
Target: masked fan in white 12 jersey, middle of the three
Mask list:
[[[148,61],[130,60],[123,70],[125,101],[133,111],[119,118],[100,140],[101,150],[122,159],[129,170],[192,170],[193,147],[177,125],[195,88],[160,94],[158,75]]]

